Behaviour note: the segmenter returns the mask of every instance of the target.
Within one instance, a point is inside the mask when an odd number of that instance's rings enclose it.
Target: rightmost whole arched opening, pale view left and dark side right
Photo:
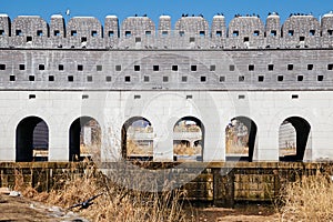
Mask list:
[[[280,161],[303,161],[310,145],[311,125],[300,117],[285,119],[279,129]]]

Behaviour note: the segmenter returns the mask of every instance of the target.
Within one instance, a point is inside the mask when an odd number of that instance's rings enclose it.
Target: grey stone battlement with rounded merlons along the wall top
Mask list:
[[[259,16],[236,14],[225,24],[216,14],[211,26],[202,16],[183,14],[172,27],[161,16],[157,26],[147,16],[128,17],[121,24],[107,16],[104,24],[93,17],[74,17],[67,23],[53,14],[50,24],[36,16],[11,19],[0,14],[0,48],[64,49],[290,49],[332,48],[333,13],[319,21],[312,14],[291,14],[281,24],[278,13],[265,22]]]

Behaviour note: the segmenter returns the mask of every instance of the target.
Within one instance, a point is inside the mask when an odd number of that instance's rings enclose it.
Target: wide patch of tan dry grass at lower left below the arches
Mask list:
[[[33,188],[24,185],[22,176],[17,174],[16,190],[36,201],[65,209],[103,193],[94,199],[93,204],[88,209],[72,209],[91,221],[185,221],[182,201],[184,193],[181,191],[129,190],[98,172],[93,164],[85,170],[83,176],[75,178],[68,173],[62,178],[64,180],[59,180],[59,183],[54,185],[57,189],[38,193]]]

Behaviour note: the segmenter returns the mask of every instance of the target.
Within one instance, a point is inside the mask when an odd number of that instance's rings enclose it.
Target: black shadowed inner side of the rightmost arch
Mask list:
[[[311,125],[306,120],[299,117],[291,117],[284,121],[290,122],[296,131],[296,154],[281,157],[280,161],[303,161]]]

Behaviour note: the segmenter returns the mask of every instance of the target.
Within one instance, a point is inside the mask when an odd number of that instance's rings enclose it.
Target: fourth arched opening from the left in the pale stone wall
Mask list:
[[[204,125],[193,117],[180,119],[173,128],[173,160],[202,161]]]

